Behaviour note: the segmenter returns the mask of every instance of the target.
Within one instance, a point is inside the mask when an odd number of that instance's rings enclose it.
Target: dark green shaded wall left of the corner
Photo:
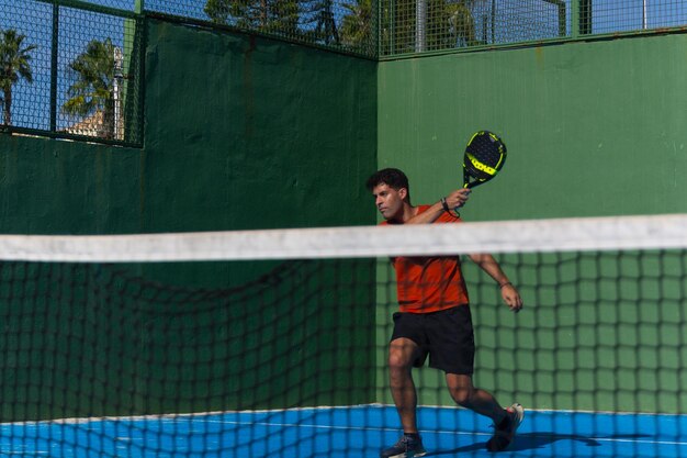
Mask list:
[[[145,22],[143,148],[0,135],[1,233],[374,222],[360,182],[376,160],[376,63]],[[294,405],[295,393],[313,405],[370,402],[372,376],[352,375],[372,364],[372,286],[312,284],[372,265],[316,266],[5,262],[2,417],[264,409]],[[246,282],[252,290],[237,289]],[[352,304],[369,306],[345,313]],[[351,353],[353,342],[364,350]]]

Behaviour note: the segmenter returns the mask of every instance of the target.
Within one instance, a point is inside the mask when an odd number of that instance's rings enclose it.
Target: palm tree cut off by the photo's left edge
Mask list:
[[[12,87],[20,80],[33,82],[31,52],[36,45],[24,46],[26,35],[9,29],[0,33],[0,89],[2,90],[3,124],[12,124]]]

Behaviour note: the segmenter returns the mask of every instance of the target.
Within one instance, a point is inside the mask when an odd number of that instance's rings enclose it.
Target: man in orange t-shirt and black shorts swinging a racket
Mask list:
[[[433,205],[414,206],[407,177],[393,168],[372,175],[367,187],[385,220],[382,224],[458,223],[461,220],[451,209],[462,206],[470,197],[469,189],[459,189]],[[478,254],[470,258],[496,280],[510,310],[520,311],[520,294],[494,257]],[[394,314],[388,368],[392,396],[404,435],[380,456],[410,458],[426,454],[417,429],[417,393],[410,370],[423,366],[428,355],[429,366],[446,372],[453,400],[494,421],[495,432],[487,442],[487,449],[504,450],[513,442],[525,412],[517,403],[503,409],[491,393],[472,383],[474,337],[460,258],[396,257],[392,262],[396,270],[399,312]]]

